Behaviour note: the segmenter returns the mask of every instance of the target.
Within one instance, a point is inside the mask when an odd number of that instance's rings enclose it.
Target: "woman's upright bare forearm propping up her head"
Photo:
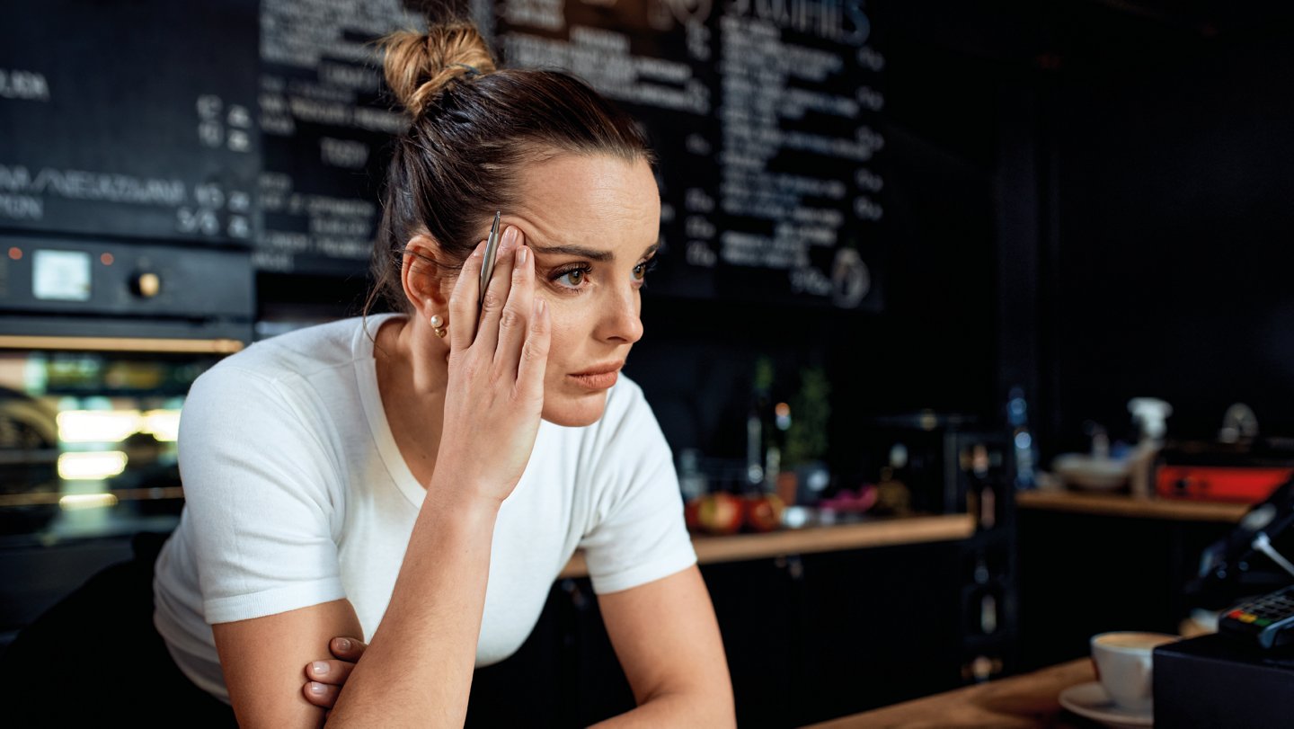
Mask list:
[[[459,484],[461,486],[461,484]],[[427,489],[382,624],[329,725],[462,726],[498,502]]]

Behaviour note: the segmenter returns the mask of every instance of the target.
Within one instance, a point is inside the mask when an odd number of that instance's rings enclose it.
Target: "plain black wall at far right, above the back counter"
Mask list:
[[[1141,395],[1174,405],[1171,435],[1215,436],[1236,401],[1294,429],[1294,14],[1211,5],[1057,17],[1057,447],[1088,418],[1131,435]]]

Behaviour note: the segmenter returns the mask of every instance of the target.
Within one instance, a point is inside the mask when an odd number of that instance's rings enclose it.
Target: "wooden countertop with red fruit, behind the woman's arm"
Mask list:
[[[871,546],[898,544],[924,544],[952,541],[974,533],[974,519],[969,514],[942,514],[934,517],[895,517],[851,524],[783,530],[769,533],[741,533],[732,536],[694,536],[696,559],[701,565],[740,562],[783,554],[810,554],[814,552],[842,552]],[[587,576],[584,554],[577,552],[558,575],[563,578]]]

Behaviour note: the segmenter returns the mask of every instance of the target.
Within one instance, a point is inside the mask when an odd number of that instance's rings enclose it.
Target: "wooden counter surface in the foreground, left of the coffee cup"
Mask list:
[[[1065,729],[1092,723],[1064,711],[1060,693],[1096,680],[1092,660],[1080,658],[976,686],[886,706],[814,724],[811,729],[906,726],[991,726],[994,729]]]

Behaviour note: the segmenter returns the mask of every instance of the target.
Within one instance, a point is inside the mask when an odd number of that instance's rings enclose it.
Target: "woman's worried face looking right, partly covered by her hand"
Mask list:
[[[641,289],[660,237],[656,180],[641,159],[565,154],[523,168],[521,190],[502,223],[525,234],[553,322],[543,420],[589,425],[643,334]]]

